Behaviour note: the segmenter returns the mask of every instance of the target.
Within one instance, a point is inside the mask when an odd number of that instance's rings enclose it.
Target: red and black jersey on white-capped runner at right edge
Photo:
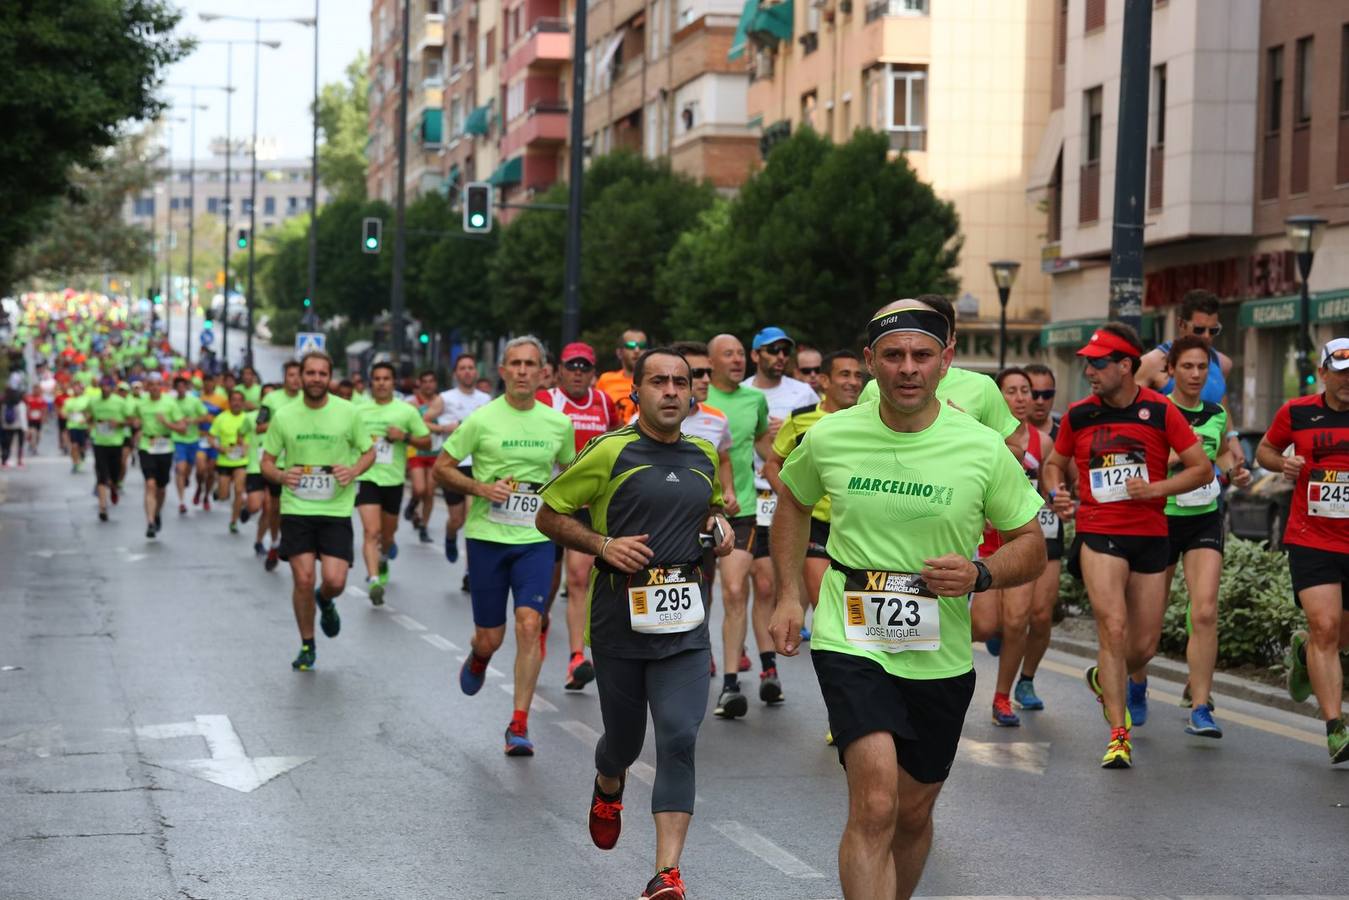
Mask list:
[[[1265,440],[1280,452],[1292,444],[1307,460],[1292,488],[1284,542],[1349,553],[1349,410],[1330,409],[1325,394],[1290,399]]]

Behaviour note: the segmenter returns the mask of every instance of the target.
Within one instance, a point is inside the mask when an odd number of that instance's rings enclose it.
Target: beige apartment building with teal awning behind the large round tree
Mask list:
[[[1009,362],[1036,358],[1048,318],[1044,217],[1025,184],[1050,121],[1052,13],[1052,0],[749,0],[733,49],[765,152],[801,127],[838,142],[873,128],[955,204],[960,359],[986,371],[998,362],[990,262],[1021,263]]]

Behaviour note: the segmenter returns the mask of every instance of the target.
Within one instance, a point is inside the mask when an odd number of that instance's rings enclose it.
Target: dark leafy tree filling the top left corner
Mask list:
[[[169,0],[9,3],[0,15],[0,293],[19,247],[71,185],[94,169],[127,120],[156,116],[165,69],[190,50]]]

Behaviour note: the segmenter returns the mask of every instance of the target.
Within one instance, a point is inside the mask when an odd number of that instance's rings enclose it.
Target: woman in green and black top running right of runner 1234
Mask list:
[[[1244,466],[1233,466],[1232,453],[1224,448],[1228,413],[1218,403],[1201,398],[1210,360],[1210,347],[1202,337],[1184,335],[1171,343],[1167,354],[1167,374],[1174,382],[1171,402],[1199,436],[1215,472],[1222,472],[1237,487],[1245,487],[1251,483],[1251,472]],[[1218,664],[1218,582],[1222,578],[1224,528],[1222,511],[1218,509],[1221,491],[1214,476],[1198,490],[1167,498],[1167,594],[1171,592],[1176,563],[1183,559],[1190,595],[1190,609],[1186,611],[1190,680],[1186,696],[1190,698],[1191,711],[1184,730],[1205,738],[1222,737],[1222,729],[1213,719],[1211,698],[1213,671]],[[1147,675],[1145,668],[1129,675],[1130,695],[1147,694]]]

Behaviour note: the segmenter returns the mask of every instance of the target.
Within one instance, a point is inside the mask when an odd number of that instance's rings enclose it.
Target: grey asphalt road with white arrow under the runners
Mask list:
[[[136,471],[101,525],[92,475],[70,475],[46,439],[46,457],[0,471],[0,897],[641,892],[652,745],[622,841],[596,850],[584,816],[599,707],[594,687],[561,688],[563,627],[532,718],[538,756],[506,758],[510,641],[483,692],[463,696],[469,606],[440,544],[405,529],[389,606],[348,591],[341,636],[295,673],[289,579],[263,571],[250,536],[229,536],[219,509],[170,507],[147,541]],[[1048,710],[1021,729],[989,722],[993,667],[977,660],[920,895],[1349,891],[1349,768],[1329,766],[1317,722],[1219,696],[1226,737],[1188,738],[1155,684],[1137,768],[1103,772],[1083,660],[1051,653]],[[781,668],[784,706],[703,726],[691,897],[840,896],[843,772],[808,660]]]

